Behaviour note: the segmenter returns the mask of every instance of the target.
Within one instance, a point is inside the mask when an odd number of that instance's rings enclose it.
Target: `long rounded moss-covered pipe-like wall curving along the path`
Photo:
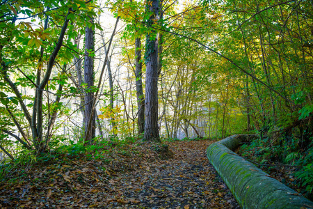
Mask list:
[[[313,203],[271,178],[232,150],[255,135],[234,135],[211,144],[207,157],[241,208],[313,208]]]

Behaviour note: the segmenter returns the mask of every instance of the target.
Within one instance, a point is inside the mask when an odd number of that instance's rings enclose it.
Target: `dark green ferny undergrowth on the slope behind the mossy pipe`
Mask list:
[[[313,200],[313,137],[307,146],[301,145],[302,140],[294,136],[259,137],[243,144],[239,154],[259,164],[273,164],[261,168]]]

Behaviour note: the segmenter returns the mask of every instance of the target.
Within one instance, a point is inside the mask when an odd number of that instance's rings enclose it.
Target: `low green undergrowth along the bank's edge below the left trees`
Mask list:
[[[15,169],[23,168],[28,170],[31,167],[38,167],[40,165],[48,164],[70,164],[72,160],[102,160],[103,162],[110,162],[105,155],[114,150],[120,155],[129,155],[127,145],[138,144],[140,140],[135,137],[125,137],[118,139],[117,137],[110,137],[109,139],[95,139],[93,144],[84,144],[82,141],[71,141],[70,139],[54,140],[51,143],[50,150],[45,153],[37,154],[35,150],[21,150],[15,155],[15,160],[10,162],[3,162],[0,166],[0,181],[6,180],[10,176],[10,181],[15,180],[12,176],[15,175]]]

